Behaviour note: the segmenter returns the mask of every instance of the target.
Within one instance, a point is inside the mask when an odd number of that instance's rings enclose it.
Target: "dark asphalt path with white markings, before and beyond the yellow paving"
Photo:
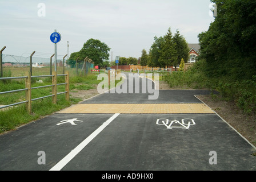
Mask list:
[[[149,100],[154,93],[139,91],[103,93],[81,105],[203,104],[195,95],[209,94],[158,90]],[[215,113],[55,113],[0,135],[0,170],[255,171],[254,152]]]

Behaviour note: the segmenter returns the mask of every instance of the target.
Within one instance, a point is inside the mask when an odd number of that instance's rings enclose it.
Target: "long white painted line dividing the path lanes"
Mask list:
[[[60,171],[64,166],[66,166],[67,163],[70,162],[71,159],[73,159],[85,146],[87,146],[88,143],[91,142],[109,123],[111,123],[115,118],[118,117],[119,114],[114,114],[111,118],[107,119],[106,122],[104,122],[101,126],[98,127],[97,130],[95,130],[92,134],[90,134],[89,137],[87,137],[85,140],[83,140],[82,143],[80,143],[77,147],[74,148],[69,154],[65,156],[61,161],[59,161],[54,167],[50,169],[50,171]]]

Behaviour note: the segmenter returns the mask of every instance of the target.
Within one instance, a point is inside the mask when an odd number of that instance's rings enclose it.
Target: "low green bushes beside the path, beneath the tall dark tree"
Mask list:
[[[184,86],[192,89],[217,90],[221,98],[235,104],[245,114],[256,113],[256,75],[249,80],[235,80],[231,77],[207,75],[205,61],[200,60],[186,72],[173,72],[165,76],[171,88]]]

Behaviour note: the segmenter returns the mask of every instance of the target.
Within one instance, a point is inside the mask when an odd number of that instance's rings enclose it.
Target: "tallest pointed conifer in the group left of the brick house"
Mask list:
[[[179,63],[177,44],[173,40],[171,28],[168,29],[167,34],[163,38],[165,39],[165,43],[161,51],[161,56],[159,57],[159,62],[161,65],[165,65],[167,67],[173,65],[176,67]]]

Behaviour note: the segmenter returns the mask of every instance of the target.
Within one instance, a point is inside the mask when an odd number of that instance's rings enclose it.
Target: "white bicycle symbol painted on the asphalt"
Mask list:
[[[165,125],[166,129],[182,129],[188,130],[190,126],[195,125],[194,119],[181,119],[181,122],[178,120],[169,121],[169,119],[157,119],[157,125]]]

